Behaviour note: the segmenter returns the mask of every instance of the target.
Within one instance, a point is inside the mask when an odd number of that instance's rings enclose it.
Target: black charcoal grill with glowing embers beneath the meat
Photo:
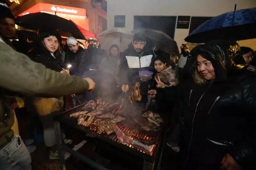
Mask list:
[[[99,139],[100,142],[108,143],[112,146],[115,146],[117,149],[122,150],[124,152],[130,153],[134,156],[137,156],[138,158],[142,158],[145,162],[152,163],[154,166],[157,165],[157,161],[159,159],[159,156],[161,156],[161,153],[163,151],[163,143],[164,138],[166,134],[166,122],[168,122],[168,116],[167,114],[161,114],[158,113],[165,121],[161,126],[161,130],[157,133],[145,133],[145,131],[142,131],[136,122],[129,120],[125,120],[123,122],[120,122],[116,124],[119,129],[121,129],[124,133],[133,133],[133,129],[138,129],[138,132],[133,135],[136,140],[143,140],[147,142],[153,142],[156,141],[156,145],[152,148],[152,151],[145,152],[140,148],[137,148],[132,145],[123,145],[121,142],[118,141],[118,137],[115,133],[107,135],[104,133],[99,133],[97,131],[98,126],[92,125],[90,127],[84,127],[78,125],[78,119],[75,117],[70,117],[70,114],[78,111],[82,111],[85,104],[79,105],[77,107],[74,107],[71,110],[68,110],[64,112],[62,115],[55,116],[55,121],[60,122],[62,126],[69,126],[71,128],[74,128],[80,132],[83,133],[83,136],[86,138],[87,136],[90,136],[93,138],[90,138],[92,140]],[[109,120],[110,121],[110,120]],[[90,134],[90,135],[88,135]]]

